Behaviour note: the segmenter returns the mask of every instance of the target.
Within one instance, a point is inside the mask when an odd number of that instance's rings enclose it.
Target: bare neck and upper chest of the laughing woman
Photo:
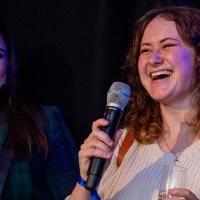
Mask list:
[[[161,112],[164,124],[163,137],[159,139],[161,149],[165,152],[183,151],[194,141],[195,133],[190,126],[194,110],[174,109],[161,105]]]

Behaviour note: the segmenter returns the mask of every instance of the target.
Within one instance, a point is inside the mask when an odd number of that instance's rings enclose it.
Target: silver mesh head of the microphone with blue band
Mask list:
[[[114,82],[107,93],[107,106],[124,110],[130,99],[130,87],[122,82]]]

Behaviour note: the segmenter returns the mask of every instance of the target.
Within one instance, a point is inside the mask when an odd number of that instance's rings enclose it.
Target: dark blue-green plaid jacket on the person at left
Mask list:
[[[45,152],[36,154],[33,150],[31,160],[9,163],[11,152],[2,149],[8,127],[0,125],[1,200],[63,200],[76,184],[78,148],[71,132],[57,107],[43,109],[47,116],[44,128],[49,145],[47,159]]]

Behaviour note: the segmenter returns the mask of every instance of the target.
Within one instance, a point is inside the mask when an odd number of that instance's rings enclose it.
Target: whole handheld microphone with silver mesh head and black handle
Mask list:
[[[130,93],[130,87],[122,82],[114,82],[107,92],[107,105],[103,118],[109,121],[109,125],[102,127],[101,130],[109,135],[110,138],[113,137],[117,129],[122,111],[130,99]],[[91,158],[85,186],[87,190],[93,191],[97,187],[103,172],[105,161],[106,159],[103,158]]]

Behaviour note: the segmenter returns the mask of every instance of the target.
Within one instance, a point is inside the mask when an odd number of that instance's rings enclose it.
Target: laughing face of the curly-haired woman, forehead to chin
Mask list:
[[[190,106],[186,101],[190,101],[196,88],[196,52],[182,40],[175,22],[161,16],[153,19],[145,29],[140,52],[138,70],[149,95],[160,103],[170,102],[170,106],[172,98],[174,104]]]

